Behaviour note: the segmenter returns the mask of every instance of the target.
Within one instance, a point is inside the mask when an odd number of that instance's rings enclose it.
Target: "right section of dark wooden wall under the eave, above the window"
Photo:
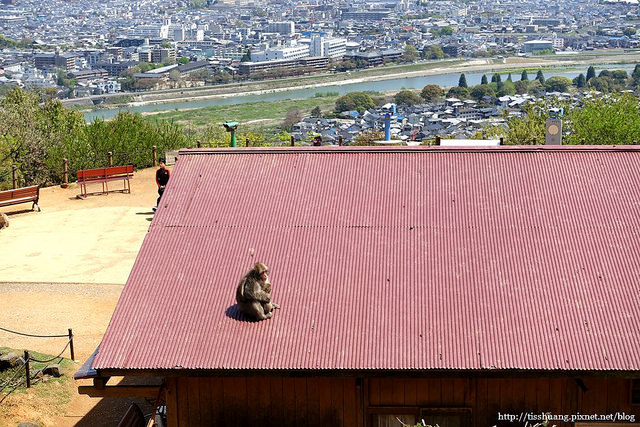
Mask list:
[[[551,412],[552,414],[636,414],[631,405],[631,380],[581,378],[583,391],[573,378],[370,378],[366,381],[367,407],[417,406],[471,408],[476,427],[510,425],[499,422],[498,412]],[[530,422],[529,425],[536,424]],[[560,422],[550,423],[557,426]],[[566,424],[569,425],[569,424]]]

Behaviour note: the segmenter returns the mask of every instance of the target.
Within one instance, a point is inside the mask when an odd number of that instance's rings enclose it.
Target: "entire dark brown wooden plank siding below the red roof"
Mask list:
[[[470,427],[508,425],[498,413],[625,412],[640,419],[640,406],[631,405],[631,380],[581,380],[586,392],[573,378],[177,378],[167,379],[166,400],[169,427],[369,427],[372,419],[363,421],[364,414],[394,407],[416,413],[466,408]]]

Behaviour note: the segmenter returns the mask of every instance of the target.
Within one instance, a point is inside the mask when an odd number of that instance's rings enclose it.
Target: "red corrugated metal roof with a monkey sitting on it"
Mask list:
[[[637,148],[181,151],[93,367],[640,370]],[[282,306],[238,320],[256,261]]]

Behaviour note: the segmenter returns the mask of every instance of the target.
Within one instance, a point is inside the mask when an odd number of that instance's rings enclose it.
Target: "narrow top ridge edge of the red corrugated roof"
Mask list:
[[[499,147],[419,146],[322,146],[322,147],[219,147],[182,148],[181,156],[202,154],[263,154],[263,153],[510,153],[510,152],[640,152],[640,145],[501,145]]]

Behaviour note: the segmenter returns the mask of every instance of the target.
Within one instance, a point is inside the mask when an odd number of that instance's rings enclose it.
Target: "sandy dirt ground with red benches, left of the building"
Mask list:
[[[137,171],[131,194],[80,199],[79,187],[71,184],[41,189],[41,212],[31,211],[26,203],[0,208],[10,222],[0,230],[0,328],[36,335],[65,334],[71,328],[78,361],[74,369],[81,366],[102,339],[153,219],[154,173]],[[121,189],[122,184],[112,182],[109,188]],[[101,185],[92,189],[98,191]],[[29,338],[0,330],[4,347],[57,355],[65,344],[64,338]],[[41,426],[117,425],[130,401],[80,396],[78,385],[68,382],[70,402],[60,408],[48,407],[31,391],[9,396],[0,405],[0,427],[23,421]]]

